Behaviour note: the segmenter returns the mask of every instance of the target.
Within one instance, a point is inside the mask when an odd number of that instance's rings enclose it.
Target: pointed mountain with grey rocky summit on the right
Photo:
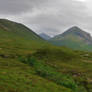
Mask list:
[[[57,46],[66,46],[79,50],[92,50],[91,35],[76,26],[68,29],[60,35],[53,37],[49,41]]]

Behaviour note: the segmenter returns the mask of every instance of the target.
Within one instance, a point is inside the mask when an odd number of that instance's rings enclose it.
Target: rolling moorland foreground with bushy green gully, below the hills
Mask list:
[[[0,91],[91,92],[91,55],[50,46],[26,56],[0,56]]]

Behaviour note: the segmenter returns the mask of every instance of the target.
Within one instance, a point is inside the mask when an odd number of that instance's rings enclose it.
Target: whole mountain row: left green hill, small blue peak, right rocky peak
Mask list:
[[[76,50],[92,51],[92,37],[79,27],[72,27],[64,33],[53,38],[45,33],[37,35],[25,25],[6,19],[0,19],[0,44],[1,47],[13,46],[31,48],[43,46],[48,40],[51,44],[65,46]],[[12,45],[11,45],[12,44]],[[39,46],[38,46],[39,45]]]

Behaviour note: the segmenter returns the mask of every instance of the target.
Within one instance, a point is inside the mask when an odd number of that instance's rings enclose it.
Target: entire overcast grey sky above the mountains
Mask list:
[[[50,36],[78,26],[92,35],[92,0],[0,0],[0,18]]]

